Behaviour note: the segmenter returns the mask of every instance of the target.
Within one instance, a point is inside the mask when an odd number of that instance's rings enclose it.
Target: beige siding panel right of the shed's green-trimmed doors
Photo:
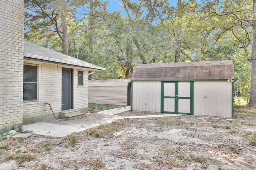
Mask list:
[[[194,115],[231,117],[232,83],[194,82]]]

